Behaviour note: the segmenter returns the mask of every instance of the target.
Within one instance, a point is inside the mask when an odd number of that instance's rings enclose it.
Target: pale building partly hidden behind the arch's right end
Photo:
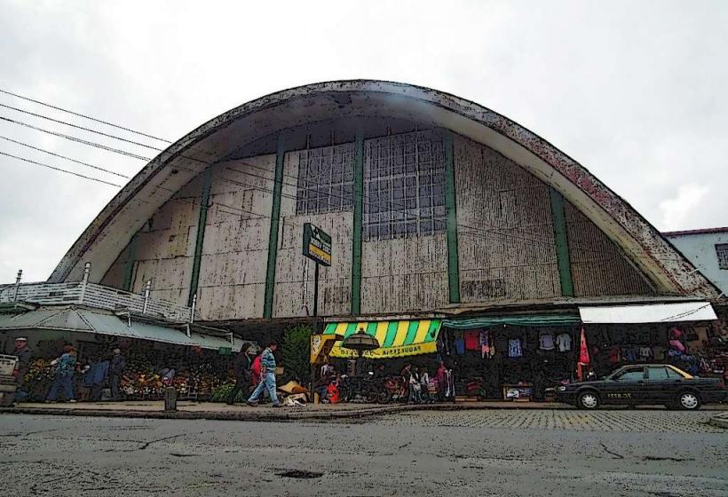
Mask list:
[[[728,227],[663,234],[724,295],[728,294]]]

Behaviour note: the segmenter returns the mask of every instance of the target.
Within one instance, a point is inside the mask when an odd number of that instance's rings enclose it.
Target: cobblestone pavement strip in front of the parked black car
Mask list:
[[[715,412],[629,410],[523,410],[411,412],[384,415],[388,426],[511,428],[526,430],[630,431],[651,433],[726,433],[708,424]]]

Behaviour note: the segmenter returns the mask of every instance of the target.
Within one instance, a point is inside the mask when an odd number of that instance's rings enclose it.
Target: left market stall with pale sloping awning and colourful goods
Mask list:
[[[32,362],[26,375],[30,399],[42,400],[50,389],[55,367],[65,345],[77,351],[74,391],[84,399],[83,371],[93,362],[111,358],[119,348],[126,362],[121,381],[125,398],[159,399],[173,386],[180,398],[206,399],[228,380],[230,356],[241,340],[220,330],[195,325],[139,322],[83,307],[41,308],[0,316],[0,346],[12,351],[18,335],[28,337]],[[107,397],[106,392],[105,397]]]

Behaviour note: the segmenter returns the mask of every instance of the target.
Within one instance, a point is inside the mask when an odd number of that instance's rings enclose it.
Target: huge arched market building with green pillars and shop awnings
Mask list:
[[[306,223],[331,237],[315,320]],[[92,291],[75,301],[39,290],[82,285]],[[667,360],[676,325],[689,351],[715,359],[724,330],[720,292],[555,146],[471,101],[368,80],[280,91],[202,124],[31,287],[0,290],[6,340],[77,321],[97,338],[234,351],[300,323],[324,336],[363,328],[392,370],[443,359],[458,395],[487,398],[518,383],[542,397],[534,383],[573,378],[582,327],[599,372]]]

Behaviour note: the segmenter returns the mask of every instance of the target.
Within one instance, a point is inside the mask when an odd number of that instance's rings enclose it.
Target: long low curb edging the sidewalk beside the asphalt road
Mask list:
[[[430,404],[423,406],[383,406],[368,409],[352,409],[340,411],[141,411],[141,410],[113,410],[113,409],[77,409],[59,407],[0,407],[0,414],[40,414],[55,416],[90,416],[107,418],[146,418],[146,419],[183,419],[183,420],[218,420],[218,421],[247,421],[247,422],[271,422],[271,421],[297,421],[297,420],[330,420],[330,419],[352,419],[374,416],[378,414],[397,414],[408,411],[471,411],[471,410],[521,410],[521,409],[572,409],[571,406],[554,404],[552,406],[526,406],[517,404],[503,406],[495,404],[488,406],[483,404]]]

